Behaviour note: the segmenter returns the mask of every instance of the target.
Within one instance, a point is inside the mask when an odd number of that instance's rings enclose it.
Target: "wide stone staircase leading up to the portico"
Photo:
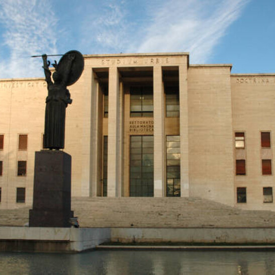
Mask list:
[[[244,211],[200,198],[72,198],[81,227],[275,227],[275,212]],[[29,208],[0,210],[0,226],[23,226]]]

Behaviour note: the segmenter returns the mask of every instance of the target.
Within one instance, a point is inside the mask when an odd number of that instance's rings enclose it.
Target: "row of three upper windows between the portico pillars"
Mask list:
[[[108,91],[104,91],[104,117],[108,118]],[[179,91],[176,87],[165,89],[166,117],[179,117]],[[130,88],[130,117],[153,117],[152,87]]]

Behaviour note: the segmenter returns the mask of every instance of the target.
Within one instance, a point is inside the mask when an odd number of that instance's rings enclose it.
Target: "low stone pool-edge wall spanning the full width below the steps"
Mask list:
[[[275,228],[0,227],[0,251],[80,252],[110,241],[275,245]]]

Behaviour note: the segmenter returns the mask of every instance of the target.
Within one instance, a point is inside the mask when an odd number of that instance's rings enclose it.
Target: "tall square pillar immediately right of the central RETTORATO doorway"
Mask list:
[[[164,197],[164,95],[161,66],[153,69],[154,90],[154,197]]]

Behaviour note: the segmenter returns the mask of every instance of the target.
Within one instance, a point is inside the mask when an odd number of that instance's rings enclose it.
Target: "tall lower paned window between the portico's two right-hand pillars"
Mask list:
[[[180,136],[166,136],[166,196],[180,197]]]

